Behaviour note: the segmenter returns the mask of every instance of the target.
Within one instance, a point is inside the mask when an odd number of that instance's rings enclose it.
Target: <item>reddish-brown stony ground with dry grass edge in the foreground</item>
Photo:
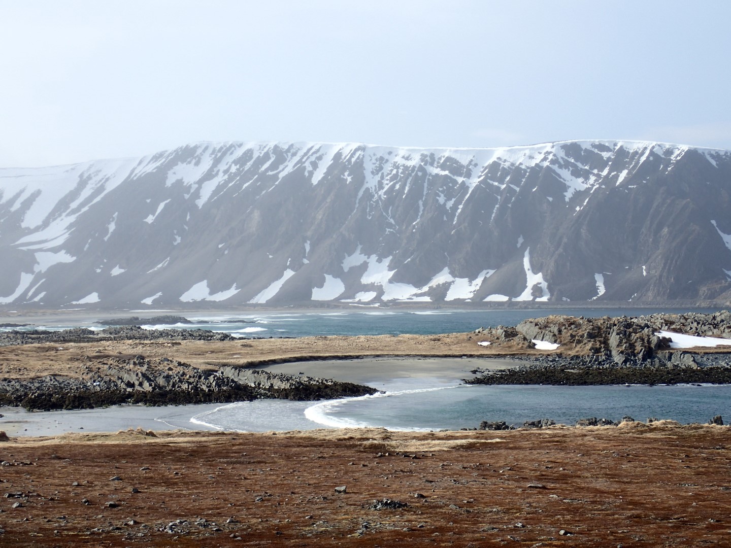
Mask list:
[[[0,460],[4,548],[731,545],[727,426],[130,430]]]

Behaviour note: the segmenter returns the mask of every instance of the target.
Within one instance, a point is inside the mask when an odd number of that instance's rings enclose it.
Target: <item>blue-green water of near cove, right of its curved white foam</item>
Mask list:
[[[521,426],[543,418],[574,425],[591,416],[686,424],[708,422],[719,414],[731,419],[731,386],[460,386],[341,400],[325,411],[330,425],[342,421],[397,430],[477,427],[483,420]]]

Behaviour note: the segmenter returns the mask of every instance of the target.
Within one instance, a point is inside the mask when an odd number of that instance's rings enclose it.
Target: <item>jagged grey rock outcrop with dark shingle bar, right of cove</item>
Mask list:
[[[548,316],[521,321],[515,327],[478,329],[490,345],[511,342],[535,346],[532,340],[558,345],[542,356],[515,357],[515,368],[465,379],[467,384],[731,384],[731,347],[713,351],[673,349],[660,331],[731,338],[731,313],[652,314],[627,318]]]

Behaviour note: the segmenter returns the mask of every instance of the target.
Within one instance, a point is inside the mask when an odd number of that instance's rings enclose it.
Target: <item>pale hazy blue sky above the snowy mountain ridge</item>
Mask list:
[[[187,142],[731,148],[731,1],[0,0],[0,167]]]

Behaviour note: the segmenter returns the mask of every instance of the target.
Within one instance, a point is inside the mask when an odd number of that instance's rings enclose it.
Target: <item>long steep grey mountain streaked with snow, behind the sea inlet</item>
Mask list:
[[[202,142],[4,169],[0,305],[729,300],[730,196],[729,151],[655,142]]]

